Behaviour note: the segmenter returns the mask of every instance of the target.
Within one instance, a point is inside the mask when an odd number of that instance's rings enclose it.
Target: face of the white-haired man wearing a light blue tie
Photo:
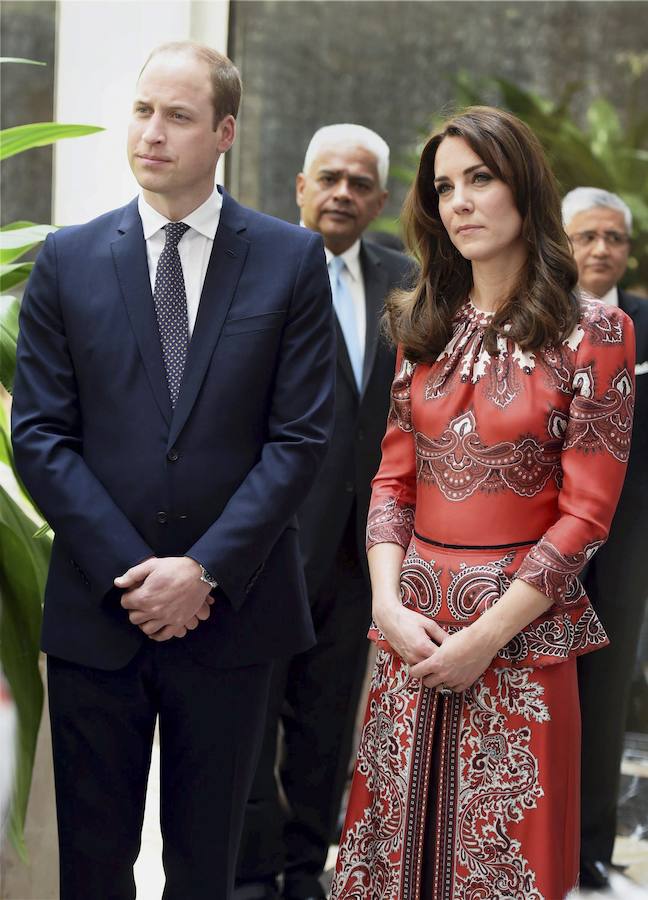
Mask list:
[[[376,158],[355,145],[324,148],[308,172],[297,176],[297,206],[307,228],[319,231],[339,255],[355,243],[381,212],[387,191],[380,187]]]

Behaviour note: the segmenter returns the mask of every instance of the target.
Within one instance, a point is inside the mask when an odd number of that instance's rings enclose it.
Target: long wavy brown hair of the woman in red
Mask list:
[[[452,116],[423,149],[403,207],[407,246],[419,261],[419,276],[413,290],[395,292],[387,300],[387,331],[402,344],[407,359],[434,362],[450,340],[453,316],[472,287],[471,264],[448,237],[439,215],[434,159],[446,137],[463,138],[510,187],[522,217],[526,265],[491,319],[486,348],[496,350],[498,334],[529,350],[558,344],[579,316],[574,292],[578,270],[563,229],[558,186],[531,129],[490,106],[471,106]]]

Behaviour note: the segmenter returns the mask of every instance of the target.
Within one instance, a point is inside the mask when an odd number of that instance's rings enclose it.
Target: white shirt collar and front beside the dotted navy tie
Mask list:
[[[185,282],[185,293],[187,295],[189,337],[191,337],[196,324],[200,295],[205,283],[205,275],[207,274],[207,266],[214,245],[214,236],[220,221],[222,206],[222,194],[218,192],[218,188],[214,187],[211,196],[198,209],[194,209],[192,213],[189,213],[188,216],[182,219],[189,226],[189,230],[182,236],[178,244],[178,253],[180,254],[182,274]],[[142,219],[142,229],[146,240],[146,258],[151,279],[151,293],[153,293],[155,290],[157,264],[164,249],[165,234],[162,229],[170,220],[153,209],[141,194],[137,201],[137,208]]]

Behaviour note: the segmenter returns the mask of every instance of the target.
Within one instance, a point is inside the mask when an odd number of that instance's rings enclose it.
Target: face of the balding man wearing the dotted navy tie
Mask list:
[[[231,147],[232,116],[214,130],[209,68],[188,53],[160,53],[146,66],[128,129],[128,159],[146,199],[186,215],[214,188],[216,163]]]

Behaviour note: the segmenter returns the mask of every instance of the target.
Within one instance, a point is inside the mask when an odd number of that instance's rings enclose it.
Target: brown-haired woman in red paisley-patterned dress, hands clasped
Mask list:
[[[577,884],[578,580],[607,536],[634,337],[576,291],[532,132],[473,107],[427,143],[405,210],[421,269],[367,546],[378,658],[332,900],[560,900]]]

